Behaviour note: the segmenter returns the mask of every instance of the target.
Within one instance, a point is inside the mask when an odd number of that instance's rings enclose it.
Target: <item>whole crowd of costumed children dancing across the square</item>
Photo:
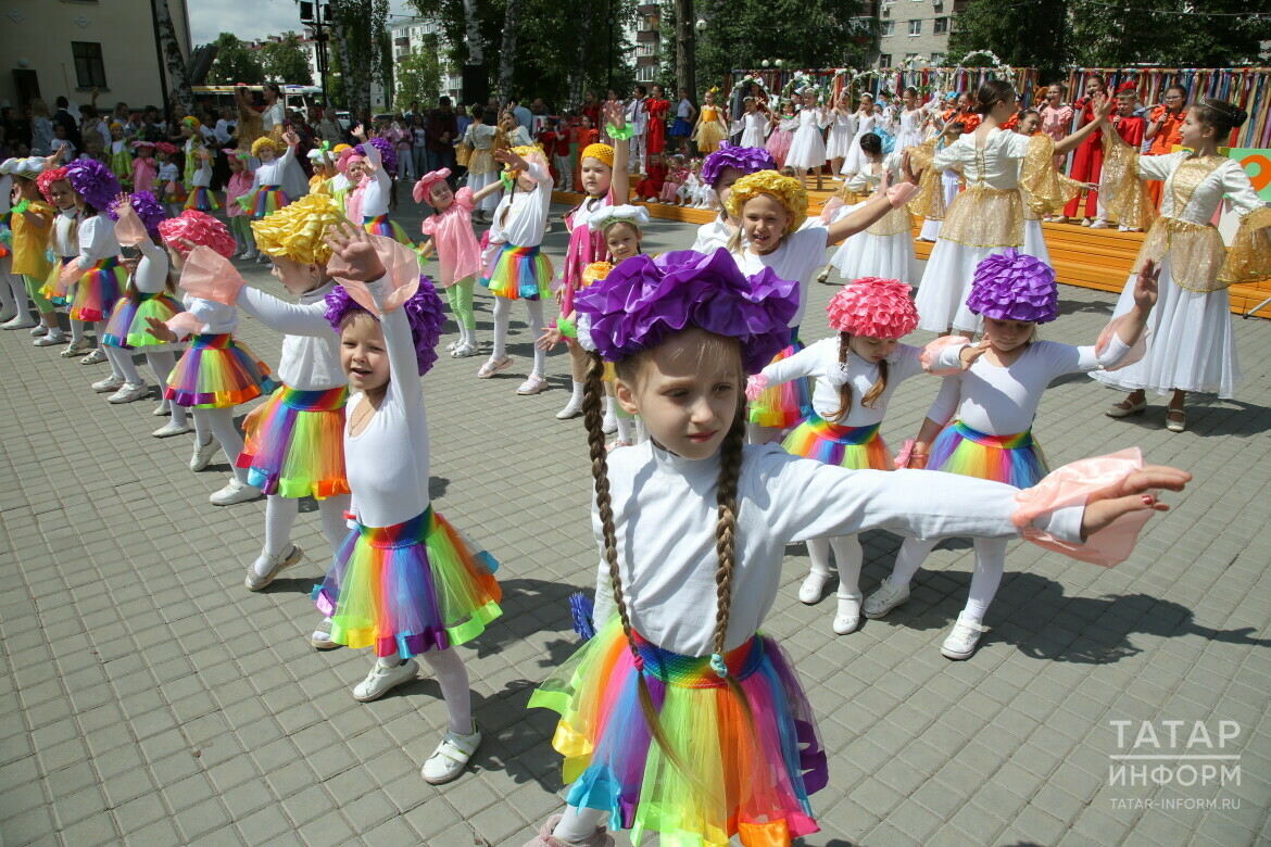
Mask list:
[[[112,150],[109,166],[10,159],[0,165],[0,320],[31,328],[37,345],[66,344],[62,356],[108,362],[111,376],[92,387],[111,403],[149,395],[133,361],[145,354],[163,386],[156,414],[172,417],[154,436],[182,436],[192,423],[193,471],[217,450],[233,460],[234,476],[211,503],[267,498],[247,589],[267,588],[304,557],[291,530],[299,499],[318,502],[330,551],[309,639],[318,649],[375,649],[353,687],[358,701],[413,679],[417,659],[431,668],[449,720],[422,776],[441,784],[463,773],[482,740],[454,648],[497,626],[501,589],[497,563],[432,508],[419,377],[441,344],[437,288],[459,331],[445,349],[460,358],[479,350],[474,290],[493,297],[493,347],[479,378],[513,367],[508,326],[513,302],[525,301],[529,326],[544,334],[516,392],[543,391],[548,350],[568,345],[573,390],[557,418],[581,417],[587,430],[600,551],[590,639],[530,701],[561,715],[553,744],[571,784],[566,810],[531,844],[609,844],[605,825],[630,829],[634,842],[649,830],[684,844],[731,836],[789,844],[817,830],[810,796],[834,763],[797,670],[760,632],[787,544],[808,542],[798,598],[810,604],[831,578],[833,554],[833,630],[846,635],[907,599],[939,538],[972,536],[970,597],[941,648],[972,657],[1010,538],[1115,564],[1166,508],[1155,491],[1188,479],[1145,466],[1136,451],[1047,475],[1032,436],[1047,383],[1091,372],[1131,390],[1113,417],[1140,414],[1148,389],[1173,390],[1167,423],[1182,429],[1186,392],[1230,396],[1239,376],[1225,288],[1271,274],[1271,211],[1244,171],[1216,155],[1244,119],[1221,100],[1186,112],[1190,152],[1152,159],[1121,135],[1125,121],[1099,91],[1087,124],[1059,142],[1004,128],[1018,109],[1003,83],[976,93],[976,121],[947,122],[960,126],[956,138],[925,140],[927,107],[906,95],[892,150],[874,131],[872,104],[850,112],[848,97],[833,108],[817,105],[815,89],[801,97],[805,108],[779,122],[789,122],[778,130],[791,133],[788,145],[765,136],[769,118],[749,117],[764,114],[752,102],[740,130],[763,143],[732,146],[708,93],[690,132],[708,152],[700,164],[649,132],[651,122],[665,130],[671,110],[657,86],[636,112],[597,112],[604,126],[588,130],[614,143],[588,136],[577,166],[563,127],[545,130],[539,147],[474,131],[483,126],[474,121],[464,136],[473,142],[468,185],[456,190],[449,169],[413,185],[414,201],[432,208],[419,249],[391,220],[398,151],[380,137],[358,133],[356,147],[323,150],[311,190],[297,198],[285,188],[297,138],[278,127],[231,155],[224,203],[203,179],[210,155],[194,141],[197,123],[183,123],[192,133],[184,174],[164,159],[178,151],[161,143],[158,168],[137,166],[149,161],[145,145],[131,164],[125,149]],[[672,138],[685,137],[681,123],[676,109]],[[1038,340],[1037,326],[1060,309],[1032,227],[1083,187],[1056,171],[1055,156],[1097,132],[1106,173],[1117,178],[1103,185],[1106,207],[1148,236],[1096,344]],[[628,143],[636,133],[643,142]],[[489,170],[473,168],[483,151]],[[822,179],[826,160],[841,160],[850,188],[871,196],[810,218],[805,183]],[[778,173],[783,161],[796,175]],[[139,188],[150,170],[153,189]],[[949,170],[967,185],[953,197]],[[638,174],[634,185],[628,174]],[[1163,183],[1155,220],[1152,179]],[[543,251],[554,180],[583,193],[566,216],[559,273]],[[174,208],[182,190],[184,208]],[[632,197],[674,202],[685,190],[718,213],[693,250],[644,254],[648,213]],[[1242,213],[1230,250],[1209,223],[1224,194]],[[222,204],[229,225],[216,216]],[[941,223],[916,301],[910,212]],[[841,241],[835,264],[848,284],[829,307],[834,335],[805,348],[801,325],[815,320],[807,288]],[[295,302],[245,284],[235,258],[263,258]],[[419,272],[433,258],[436,284]],[[559,315],[549,323],[553,296]],[[276,371],[235,338],[240,309],[283,335]],[[941,335],[901,344],[915,328]],[[894,457],[880,427],[896,391],[921,390],[901,389],[910,377],[933,403]],[[261,397],[244,438],[234,409]],[[866,597],[857,535],[872,527],[909,538]]]

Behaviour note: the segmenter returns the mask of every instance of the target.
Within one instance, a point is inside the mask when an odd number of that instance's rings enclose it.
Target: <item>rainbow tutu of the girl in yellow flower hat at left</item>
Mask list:
[[[266,494],[323,500],[348,494],[344,403],[348,386],[300,391],[280,386],[243,422],[236,465]]]

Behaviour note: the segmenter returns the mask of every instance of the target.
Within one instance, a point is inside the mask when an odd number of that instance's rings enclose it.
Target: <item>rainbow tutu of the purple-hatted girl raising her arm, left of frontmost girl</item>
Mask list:
[[[497,568],[430,505],[391,527],[358,524],[314,588],[314,602],[330,617],[337,644],[409,659],[463,644],[502,615]]]

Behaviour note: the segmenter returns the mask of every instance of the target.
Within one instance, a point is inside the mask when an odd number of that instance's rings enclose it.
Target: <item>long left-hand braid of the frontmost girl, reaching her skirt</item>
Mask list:
[[[623,635],[627,637],[627,646],[632,651],[636,662],[637,690],[639,693],[639,709],[648,725],[653,742],[661,748],[662,754],[671,762],[685,780],[699,790],[705,786],[695,777],[691,768],[676,754],[671,747],[666,730],[653,705],[653,696],[649,693],[648,682],[644,679],[644,662],[636,646],[636,636],[632,631],[630,616],[627,610],[627,599],[623,597],[622,571],[618,566],[618,533],[614,528],[614,507],[609,495],[609,451],[605,447],[602,397],[605,396],[602,375],[605,372],[604,359],[600,353],[587,353],[587,372],[585,390],[582,395],[582,420],[587,428],[587,447],[591,452],[591,475],[596,483],[596,512],[600,517],[601,532],[605,540],[605,563],[609,565],[609,582],[614,589],[614,604],[618,607],[618,617],[623,625]],[[596,621],[602,624],[602,621]]]

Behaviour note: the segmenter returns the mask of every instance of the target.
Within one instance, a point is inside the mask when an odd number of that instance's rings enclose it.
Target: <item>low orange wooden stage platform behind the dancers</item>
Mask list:
[[[829,184],[829,180],[826,180]],[[833,190],[810,190],[808,203],[813,215],[820,213]],[[576,204],[582,202],[582,194],[569,192],[553,192],[552,199],[557,203]],[[652,217],[681,221],[685,223],[707,223],[716,212],[681,208],[677,206],[663,206],[661,203],[646,203]],[[914,235],[919,227],[915,226]],[[1051,262],[1055,263],[1055,273],[1059,281],[1070,286],[1083,288],[1098,288],[1099,291],[1120,292],[1130,276],[1130,265],[1139,254],[1143,244],[1143,232],[1120,232],[1117,230],[1092,230],[1071,223],[1042,223],[1046,235],[1046,246],[1050,248]],[[927,259],[932,253],[932,244],[928,241],[915,241],[919,259]],[[1232,311],[1243,315],[1247,310],[1271,297],[1271,281],[1253,286],[1232,286]],[[1271,317],[1271,306],[1258,312],[1258,316]]]

